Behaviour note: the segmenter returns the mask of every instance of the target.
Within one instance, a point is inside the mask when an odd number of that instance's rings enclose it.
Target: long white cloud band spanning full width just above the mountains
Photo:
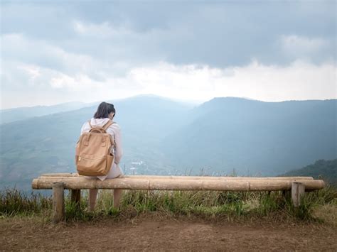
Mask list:
[[[15,64],[6,65],[14,67]],[[104,72],[102,80],[92,79],[85,72],[69,75],[36,65],[11,67],[6,69],[6,75],[12,77],[11,82],[16,82],[15,76],[18,81],[26,78],[29,85],[22,85],[16,101],[4,97],[7,108],[18,106],[18,101],[21,106],[41,104],[41,95],[43,101],[49,101],[47,104],[95,102],[149,93],[199,101],[213,97],[248,97],[267,102],[337,98],[337,69],[333,62],[315,65],[297,60],[284,67],[253,61],[245,66],[225,68],[157,62],[146,67],[132,67],[123,77]]]

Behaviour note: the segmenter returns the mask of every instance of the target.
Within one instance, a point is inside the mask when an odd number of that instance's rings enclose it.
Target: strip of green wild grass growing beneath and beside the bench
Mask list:
[[[322,211],[320,209],[323,209]],[[329,212],[336,213],[337,190],[306,193],[299,207],[294,207],[281,192],[219,192],[219,191],[124,191],[118,209],[113,207],[112,190],[100,190],[95,212],[87,209],[87,190],[82,190],[80,209],[65,196],[68,221],[95,221],[102,218],[132,218],[156,212],[173,217],[203,219],[291,219],[296,221],[336,222]],[[320,212],[321,211],[321,212]],[[0,191],[0,217],[43,217],[51,221],[52,199],[40,194],[26,195],[14,189]],[[329,219],[330,218],[330,219]]]

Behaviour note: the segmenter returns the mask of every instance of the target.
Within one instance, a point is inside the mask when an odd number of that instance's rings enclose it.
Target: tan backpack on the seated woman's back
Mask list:
[[[114,124],[111,120],[103,127],[92,127],[82,133],[77,141],[75,163],[79,175],[104,176],[109,172],[114,155],[110,149],[114,147],[114,139],[107,133],[107,128]]]

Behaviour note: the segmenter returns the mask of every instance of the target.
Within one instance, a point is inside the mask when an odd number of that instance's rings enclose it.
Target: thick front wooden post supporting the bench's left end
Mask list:
[[[65,199],[63,182],[53,183],[53,222],[65,219]]]

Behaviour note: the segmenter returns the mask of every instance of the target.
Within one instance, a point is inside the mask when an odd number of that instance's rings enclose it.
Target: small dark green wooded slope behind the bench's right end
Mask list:
[[[306,165],[299,170],[284,173],[285,176],[311,176],[322,178],[331,185],[337,185],[337,159],[317,160],[314,164]]]

